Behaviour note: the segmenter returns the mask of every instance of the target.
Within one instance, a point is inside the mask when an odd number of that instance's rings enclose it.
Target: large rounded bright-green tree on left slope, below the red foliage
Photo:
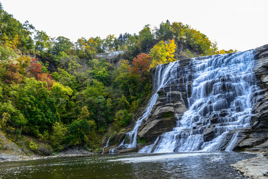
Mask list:
[[[26,133],[39,135],[59,120],[55,101],[46,86],[46,82],[26,78],[24,83],[12,84],[10,87],[12,105],[27,119],[22,128]]]

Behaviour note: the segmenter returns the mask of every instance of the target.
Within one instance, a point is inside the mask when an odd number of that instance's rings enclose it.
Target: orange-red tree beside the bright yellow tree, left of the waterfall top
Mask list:
[[[143,90],[143,82],[145,81],[144,73],[149,69],[149,56],[145,53],[141,53],[141,55],[137,55],[137,58],[133,58],[133,67],[131,68],[131,73],[141,81],[142,90]]]

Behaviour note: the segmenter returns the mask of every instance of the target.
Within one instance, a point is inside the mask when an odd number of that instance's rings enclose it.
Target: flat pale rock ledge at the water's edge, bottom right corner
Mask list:
[[[267,179],[268,177],[268,153],[259,153],[258,157],[238,161],[230,165],[239,171],[244,177]]]

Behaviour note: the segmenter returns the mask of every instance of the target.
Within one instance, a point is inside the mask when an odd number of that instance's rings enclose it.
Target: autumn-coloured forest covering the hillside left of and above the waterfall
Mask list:
[[[138,34],[71,42],[21,24],[0,3],[1,130],[32,152],[40,146],[98,151],[105,132],[117,135],[135,120],[150,96],[149,69],[176,61],[178,42],[189,58],[233,52],[219,51],[200,31],[168,20],[159,28],[147,24]],[[113,51],[124,51],[116,64],[96,56]],[[56,69],[49,71],[52,62]]]

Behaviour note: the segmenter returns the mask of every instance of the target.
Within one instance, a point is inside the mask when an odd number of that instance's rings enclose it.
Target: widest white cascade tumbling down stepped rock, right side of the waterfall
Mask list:
[[[170,63],[165,70],[175,63]],[[255,103],[252,93],[259,89],[255,85],[253,65],[253,50],[192,58],[184,67],[183,78],[186,84],[193,80],[191,96],[187,96],[189,109],[172,132],[162,134],[154,153],[219,150],[225,146],[222,142],[230,130],[251,126],[254,115],[251,109]],[[169,75],[164,75],[162,80],[164,78],[173,80]],[[213,131],[213,140],[204,137],[207,128]],[[233,133],[225,150],[232,150],[238,137],[239,131]]]

